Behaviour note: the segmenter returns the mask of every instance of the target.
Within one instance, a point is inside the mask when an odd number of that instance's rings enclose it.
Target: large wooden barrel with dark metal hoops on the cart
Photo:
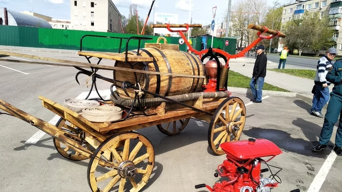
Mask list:
[[[117,61],[115,66],[161,73],[204,76],[203,63],[195,55],[174,49],[160,49],[151,45],[149,46],[150,47],[140,49],[139,55],[143,57],[152,57],[153,62],[125,63]],[[128,51],[128,54],[136,55],[137,50]],[[140,74],[125,71],[114,71],[113,76],[115,80],[119,81],[129,81],[132,83],[138,81],[142,89],[161,96],[174,96],[198,92],[204,82],[204,78]],[[122,86],[119,83],[117,83],[117,85]],[[128,97],[122,89],[116,88],[120,96]],[[134,98],[134,91],[132,89],[127,89],[127,91],[129,98]],[[144,95],[144,98],[150,97],[154,96],[149,94]]]

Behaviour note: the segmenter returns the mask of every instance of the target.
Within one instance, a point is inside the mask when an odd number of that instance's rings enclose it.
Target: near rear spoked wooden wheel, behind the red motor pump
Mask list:
[[[238,97],[228,97],[216,109],[209,124],[208,143],[222,155],[220,144],[240,139],[246,121],[246,107]]]

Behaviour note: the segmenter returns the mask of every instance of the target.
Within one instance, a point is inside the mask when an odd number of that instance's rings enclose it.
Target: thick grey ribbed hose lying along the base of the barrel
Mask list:
[[[133,98],[120,97],[116,91],[114,91],[113,94],[115,96],[110,94],[110,100],[115,104],[131,107],[134,103]],[[166,96],[166,97],[172,100],[178,101],[178,102],[183,102],[183,101],[189,101],[192,99],[198,99],[200,96],[203,96],[203,98],[224,98],[224,97],[230,96],[230,93],[229,92],[196,92],[196,93],[183,94],[183,95],[177,95],[177,96]],[[141,98],[139,100],[140,100],[140,104],[142,107],[158,106],[158,105],[161,105],[163,102],[172,103],[171,101],[165,100],[160,97]],[[139,106],[138,102],[135,102],[134,107],[138,107],[138,106]]]

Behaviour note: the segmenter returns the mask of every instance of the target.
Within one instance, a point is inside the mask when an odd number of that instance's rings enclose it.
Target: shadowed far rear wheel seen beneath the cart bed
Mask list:
[[[166,135],[179,134],[188,125],[190,118],[179,119],[176,121],[158,124],[157,127],[160,132]]]

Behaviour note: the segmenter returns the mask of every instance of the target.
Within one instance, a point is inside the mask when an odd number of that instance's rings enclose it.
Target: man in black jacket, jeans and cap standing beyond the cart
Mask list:
[[[251,87],[254,103],[261,103],[262,87],[264,86],[264,78],[266,77],[267,57],[264,53],[265,47],[258,45],[256,47],[256,62],[254,64],[253,76],[249,86]]]

